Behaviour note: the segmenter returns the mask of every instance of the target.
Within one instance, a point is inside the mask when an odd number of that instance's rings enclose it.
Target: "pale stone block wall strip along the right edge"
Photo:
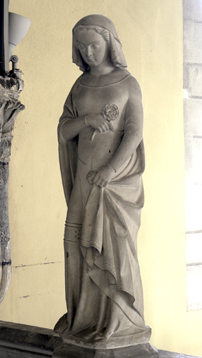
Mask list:
[[[187,310],[202,309],[202,3],[184,0]]]

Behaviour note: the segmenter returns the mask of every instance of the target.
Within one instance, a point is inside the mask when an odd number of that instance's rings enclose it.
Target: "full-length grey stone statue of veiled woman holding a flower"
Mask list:
[[[102,15],[75,24],[73,62],[83,73],[58,128],[67,313],[55,331],[94,348],[147,343],[136,245],[145,168],[140,86]]]

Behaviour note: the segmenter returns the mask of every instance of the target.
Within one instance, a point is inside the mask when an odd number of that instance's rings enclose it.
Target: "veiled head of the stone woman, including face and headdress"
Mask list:
[[[73,28],[73,62],[85,72],[108,57],[114,66],[127,66],[113,22],[103,15],[83,17]]]

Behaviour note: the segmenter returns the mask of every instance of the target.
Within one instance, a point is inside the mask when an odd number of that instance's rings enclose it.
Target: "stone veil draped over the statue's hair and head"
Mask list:
[[[124,57],[124,52],[122,50],[122,44],[120,43],[120,39],[118,38],[117,31],[115,29],[115,25],[113,22],[108,19],[108,17],[103,15],[88,15],[83,17],[81,20],[75,24],[73,27],[73,33],[76,27],[78,26],[99,26],[103,27],[103,29],[107,29],[109,31],[109,48],[110,48],[110,57],[114,66],[117,67],[127,67],[127,62]],[[75,43],[75,38],[73,37],[72,43],[72,59],[77,66],[80,67],[80,70],[85,72],[87,70],[88,65],[82,59],[80,55],[80,51],[77,48]]]

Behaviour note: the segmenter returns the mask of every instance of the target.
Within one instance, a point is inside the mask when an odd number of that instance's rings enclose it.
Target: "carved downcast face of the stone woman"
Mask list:
[[[83,29],[78,33],[78,49],[85,62],[90,66],[99,66],[109,57],[109,48],[103,36],[94,30]]]

